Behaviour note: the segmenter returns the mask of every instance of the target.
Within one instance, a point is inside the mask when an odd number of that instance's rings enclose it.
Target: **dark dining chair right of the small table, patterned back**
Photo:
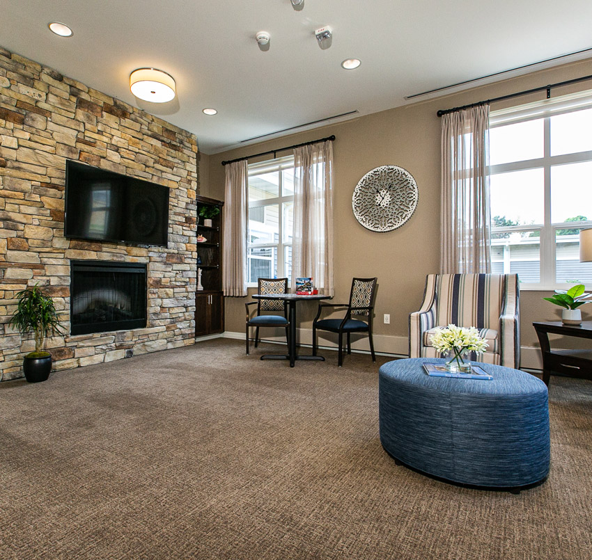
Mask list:
[[[350,291],[350,303],[320,303],[317,316],[313,321],[313,355],[317,354],[317,333],[318,329],[328,330],[331,333],[338,333],[338,366],[343,364],[343,334],[347,336],[348,354],[352,353],[352,333],[368,333],[370,353],[372,361],[376,361],[374,344],[372,340],[372,315],[374,310],[374,298],[376,295],[377,278],[354,278]],[[320,319],[324,307],[347,307],[343,319]],[[352,319],[352,315],[365,317]]]

